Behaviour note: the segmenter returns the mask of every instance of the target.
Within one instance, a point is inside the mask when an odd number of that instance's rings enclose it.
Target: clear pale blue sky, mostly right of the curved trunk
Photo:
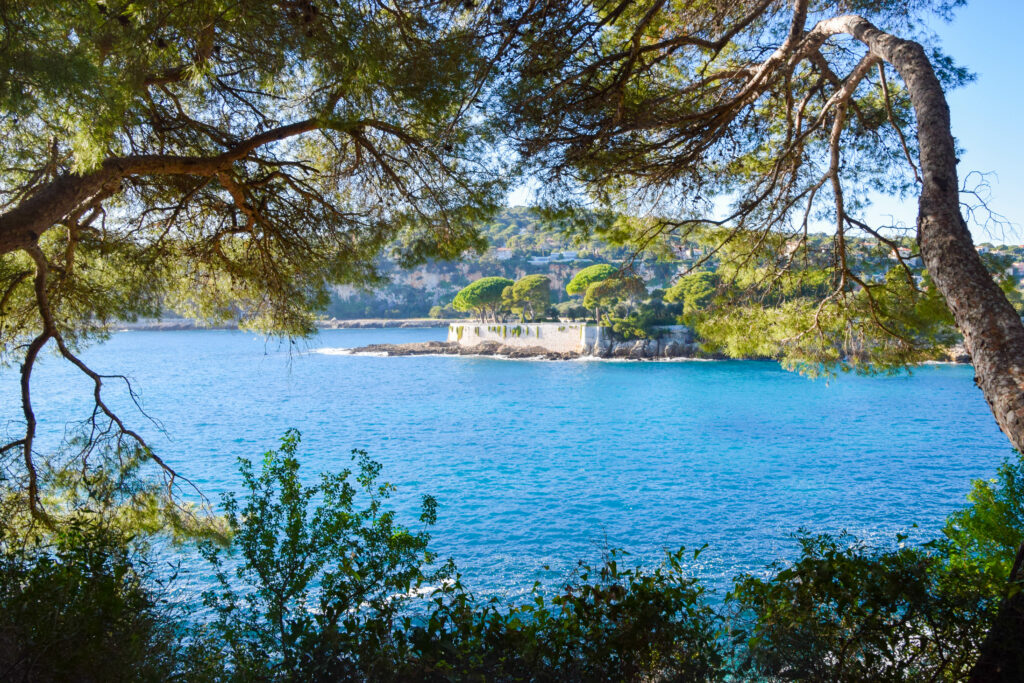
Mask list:
[[[959,174],[991,173],[989,206],[1013,223],[986,230],[972,225],[976,243],[1024,244],[1024,0],[968,0],[949,24],[936,20],[942,48],[977,79],[948,92],[953,135],[964,147]],[[880,27],[885,28],[885,27]],[[509,203],[528,203],[517,189]],[[871,218],[913,225],[916,202],[880,198]]]

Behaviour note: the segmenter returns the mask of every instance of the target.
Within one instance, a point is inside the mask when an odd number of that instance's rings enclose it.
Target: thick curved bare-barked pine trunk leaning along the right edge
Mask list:
[[[961,215],[949,108],[935,71],[920,44],[879,31],[861,17],[830,19],[815,30],[821,28],[861,41],[906,84],[918,118],[924,181],[918,206],[921,255],[964,334],[975,383],[999,429],[1024,452],[1024,325],[985,269]],[[1022,558],[1024,545],[1011,582],[1022,578]],[[1024,591],[1004,601],[970,680],[1024,681]]]

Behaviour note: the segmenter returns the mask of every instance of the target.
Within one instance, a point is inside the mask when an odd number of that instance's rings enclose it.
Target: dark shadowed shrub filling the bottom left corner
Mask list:
[[[178,629],[144,547],[82,519],[20,536],[0,524],[0,678],[161,681]]]

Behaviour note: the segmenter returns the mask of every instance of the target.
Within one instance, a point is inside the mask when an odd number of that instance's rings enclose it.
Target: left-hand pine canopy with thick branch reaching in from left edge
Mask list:
[[[306,334],[331,284],[482,249],[485,13],[398,0],[4,4],[0,364],[168,308]],[[488,56],[489,55],[489,56]],[[33,490],[35,484],[32,485]],[[33,500],[35,494],[33,494]]]

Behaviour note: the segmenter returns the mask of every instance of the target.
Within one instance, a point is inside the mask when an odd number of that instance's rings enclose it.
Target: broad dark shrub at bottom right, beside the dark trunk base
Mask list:
[[[998,604],[930,548],[798,537],[800,559],[733,589],[742,672],[755,680],[964,680]],[[745,626],[743,626],[745,625]]]

